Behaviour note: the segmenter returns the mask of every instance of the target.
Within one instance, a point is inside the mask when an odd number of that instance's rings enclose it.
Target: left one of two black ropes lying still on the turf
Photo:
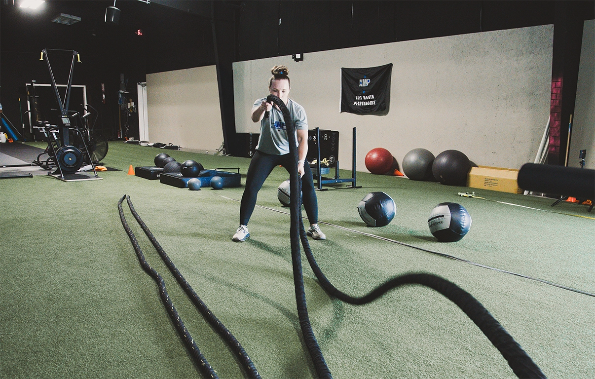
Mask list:
[[[196,346],[196,342],[190,336],[189,331],[186,329],[186,325],[181,320],[180,315],[176,311],[176,307],[173,305],[170,299],[170,295],[168,295],[167,290],[165,290],[165,281],[159,275],[159,272],[155,271],[145,259],[145,255],[143,255],[143,251],[140,249],[139,242],[134,237],[134,233],[130,229],[130,226],[126,222],[126,218],[124,217],[124,211],[122,209],[122,202],[126,198],[126,195],[122,196],[120,201],[118,201],[118,212],[120,212],[120,220],[122,221],[122,225],[124,226],[124,230],[130,237],[130,242],[132,242],[132,246],[134,247],[134,252],[136,252],[136,256],[139,258],[140,266],[145,270],[149,276],[155,280],[155,283],[159,287],[159,296],[161,296],[161,302],[165,305],[167,309],[167,314],[170,316],[171,321],[174,323],[178,334],[180,334],[180,338],[186,344],[187,349],[190,351],[190,355],[195,361],[195,364],[198,365],[199,370],[205,377],[207,378],[218,378],[217,372],[211,367],[204,355],[202,355],[201,350]]]

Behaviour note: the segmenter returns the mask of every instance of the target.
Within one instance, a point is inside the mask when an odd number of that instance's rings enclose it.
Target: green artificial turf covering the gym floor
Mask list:
[[[263,378],[315,377],[297,319],[289,208],[277,200],[277,186],[289,175],[274,169],[259,192],[250,239],[235,243],[231,236],[249,159],[166,151],[177,161],[196,159],[209,169],[239,167],[242,186],[218,191],[127,175],[130,165],[150,166],[163,151],[110,142],[104,164],[121,171],[101,172],[102,180],[0,181],[0,377],[200,376],[122,227],[117,202],[125,194]],[[595,377],[595,297],[361,234],[595,293],[595,220],[568,215],[595,213],[572,203],[551,207],[553,199],[487,190],[475,190],[487,200],[462,198],[458,192],[474,189],[368,173],[358,173],[358,185],[362,188],[343,184],[317,192],[327,240],[309,241],[334,286],[361,296],[394,275],[440,275],[483,303],[549,378]],[[386,227],[367,227],[359,218],[356,206],[374,191],[396,202],[396,216]],[[431,209],[447,201],[461,203],[472,218],[471,230],[456,243],[437,242],[427,227]],[[126,202],[123,207],[206,359],[221,378],[244,377]],[[439,293],[405,286],[369,305],[349,305],[325,294],[305,256],[302,261],[310,320],[335,378],[514,377],[473,322]]]

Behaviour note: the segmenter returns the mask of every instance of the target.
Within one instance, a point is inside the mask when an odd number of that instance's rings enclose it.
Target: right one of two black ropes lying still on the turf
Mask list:
[[[136,210],[134,210],[134,206],[132,205],[130,196],[126,196],[126,201],[128,202],[128,206],[130,207],[130,212],[132,213],[134,218],[136,218],[136,221],[139,223],[146,236],[149,237],[149,240],[151,240],[151,243],[159,253],[159,256],[161,256],[161,259],[165,262],[165,265],[170,270],[171,274],[173,274],[174,277],[176,277],[176,280],[178,284],[180,284],[180,287],[182,287],[186,295],[190,297],[190,300],[192,300],[192,303],[195,305],[196,309],[198,309],[199,312],[201,312],[202,316],[211,325],[211,327],[215,331],[217,331],[217,333],[227,342],[231,351],[233,351],[236,354],[237,359],[239,359],[240,364],[242,364],[243,368],[246,371],[246,374],[248,374],[248,377],[260,378],[261,376],[260,374],[258,374],[258,371],[256,371],[256,367],[252,363],[252,359],[250,359],[250,357],[246,353],[246,350],[244,350],[242,345],[237,341],[236,337],[234,337],[233,334],[231,334],[231,332],[226,328],[226,326],[223,325],[223,322],[221,322],[215,316],[215,314],[211,312],[211,309],[209,309],[206,306],[206,304],[201,300],[201,298],[198,295],[196,295],[196,292],[194,291],[194,289],[192,289],[190,283],[188,283],[188,281],[184,278],[184,276],[178,270],[176,265],[174,265],[174,262],[172,262],[167,253],[165,253],[165,250],[161,247],[161,245],[159,245],[159,242],[157,241],[153,233],[151,233],[151,230],[149,230],[147,225],[140,218],[139,214],[136,212]]]

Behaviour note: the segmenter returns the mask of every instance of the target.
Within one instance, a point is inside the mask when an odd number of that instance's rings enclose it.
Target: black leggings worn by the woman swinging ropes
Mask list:
[[[262,183],[267,179],[273,168],[277,165],[285,167],[288,173],[293,167],[291,154],[285,155],[271,155],[265,154],[261,151],[256,151],[250,161],[248,174],[246,175],[246,188],[242,195],[242,203],[240,205],[240,224],[248,225],[250,216],[254,207],[256,206],[256,196],[262,187]],[[305,164],[303,166],[304,174],[302,176],[302,202],[303,207],[308,215],[310,224],[318,223],[318,201],[316,199],[316,192],[314,190],[314,181],[312,180],[312,171],[310,166]],[[291,173],[290,173],[291,174]]]

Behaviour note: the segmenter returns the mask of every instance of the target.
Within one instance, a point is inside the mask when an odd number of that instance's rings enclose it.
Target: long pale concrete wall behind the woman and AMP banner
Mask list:
[[[351,167],[352,127],[358,171],[376,147],[399,162],[411,149],[464,152],[478,165],[519,168],[533,162],[550,112],[553,26],[498,30],[236,62],[236,131],[258,133],[249,118],[268,95],[270,68],[289,67],[290,97],[309,127],[340,132],[340,167]],[[340,68],[393,63],[387,115],[340,113]]]

